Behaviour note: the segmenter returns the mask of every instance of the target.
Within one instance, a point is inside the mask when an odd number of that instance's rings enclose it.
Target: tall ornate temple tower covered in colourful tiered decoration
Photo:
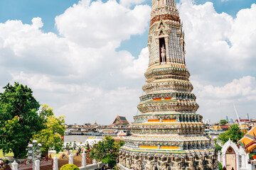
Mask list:
[[[149,68],[132,136],[119,169],[215,169],[218,161],[198,115],[186,68],[184,33],[175,0],[152,0]]]

